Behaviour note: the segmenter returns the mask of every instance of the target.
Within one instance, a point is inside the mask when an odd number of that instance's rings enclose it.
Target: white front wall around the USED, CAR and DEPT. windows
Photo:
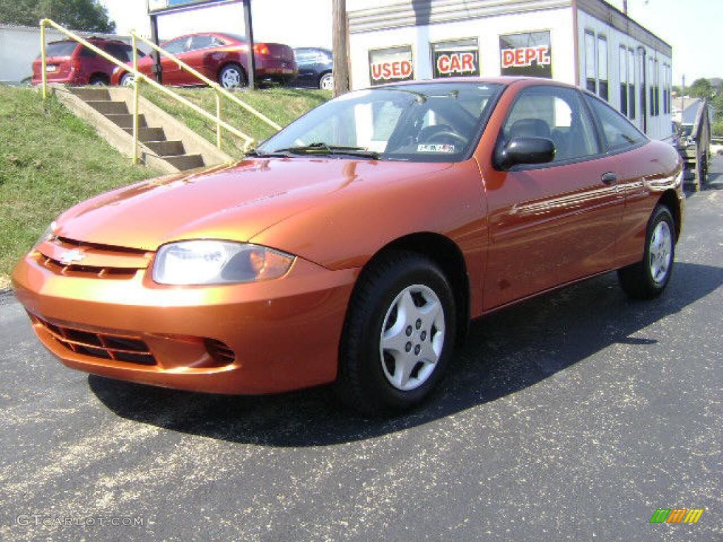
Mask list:
[[[380,4],[388,4],[380,2]],[[394,46],[411,46],[414,78],[432,77],[432,56],[429,43],[477,38],[480,74],[500,75],[500,35],[549,30],[552,47],[552,77],[558,81],[576,82],[573,47],[572,10],[544,9],[538,12],[484,17],[476,20],[443,22],[429,26],[401,27],[392,30],[352,33],[350,35],[352,88],[369,86],[369,50]]]

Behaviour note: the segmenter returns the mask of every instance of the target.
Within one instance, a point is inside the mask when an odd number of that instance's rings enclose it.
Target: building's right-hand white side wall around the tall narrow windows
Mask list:
[[[624,46],[626,51],[633,49],[635,52],[635,70],[632,77],[635,83],[635,111],[636,118],[631,119],[633,124],[636,124],[638,128],[643,129],[643,109],[641,107],[641,95],[640,89],[643,81],[641,74],[641,51],[640,48],[644,48],[646,51],[646,114],[648,122],[648,136],[652,139],[667,139],[670,137],[670,122],[671,114],[665,113],[666,108],[664,106],[664,96],[672,84],[670,80],[672,66],[671,59],[669,56],[664,56],[659,51],[655,51],[653,48],[643,45],[638,40],[630,37],[629,35],[616,30],[613,27],[605,24],[601,20],[591,17],[586,12],[578,12],[578,44],[579,44],[579,56],[580,56],[580,71],[578,74],[578,80],[576,84],[585,88],[586,87],[586,48],[585,48],[585,33],[591,32],[595,35],[595,43],[597,45],[597,38],[603,35],[607,38],[607,66],[608,66],[608,88],[609,88],[609,103],[620,111],[622,104],[620,96],[620,47]],[[627,58],[627,57],[626,57]],[[659,114],[651,116],[651,103],[650,103],[650,85],[654,84],[656,74],[655,69],[651,72],[650,59],[653,59],[653,66],[657,66],[657,77],[659,86]],[[655,64],[657,61],[657,64]],[[596,64],[597,65],[597,64]],[[625,69],[627,74],[627,69]]]

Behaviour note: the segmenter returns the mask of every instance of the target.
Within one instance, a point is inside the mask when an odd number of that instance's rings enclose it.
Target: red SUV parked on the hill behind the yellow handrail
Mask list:
[[[94,46],[121,62],[132,60],[132,48],[120,40],[88,38]],[[140,56],[145,56],[139,51]],[[116,65],[73,40],[61,40],[46,46],[48,82],[66,85],[108,85]],[[33,85],[40,85],[40,56],[33,61]]]

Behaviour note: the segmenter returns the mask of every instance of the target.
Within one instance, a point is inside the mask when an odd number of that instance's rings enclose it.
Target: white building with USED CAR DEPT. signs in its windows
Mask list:
[[[531,75],[671,135],[672,48],[604,0],[347,0],[351,85]]]

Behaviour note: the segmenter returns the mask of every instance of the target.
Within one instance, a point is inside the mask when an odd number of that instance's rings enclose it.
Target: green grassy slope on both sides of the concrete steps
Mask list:
[[[181,93],[215,111],[212,90]],[[153,89],[145,88],[142,94],[215,142],[215,126],[201,116],[179,109]],[[285,88],[240,96],[282,125],[329,98],[323,91]],[[230,102],[223,104],[222,118],[232,126],[243,126],[258,140],[272,133]],[[240,156],[241,147],[233,139],[226,134],[225,150]],[[0,85],[0,289],[9,285],[14,262],[60,212],[100,192],[155,175],[150,168],[131,165],[129,158],[54,98],[43,105],[35,90]]]

